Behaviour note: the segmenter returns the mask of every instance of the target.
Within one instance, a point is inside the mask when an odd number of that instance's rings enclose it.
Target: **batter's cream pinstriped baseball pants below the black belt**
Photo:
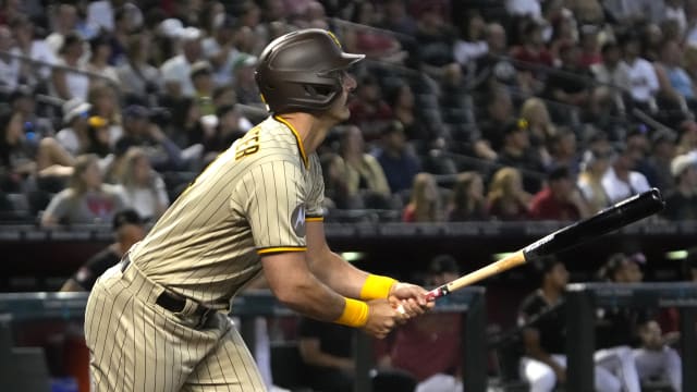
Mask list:
[[[93,391],[266,391],[232,321],[158,305],[164,287],[121,262],[95,284],[85,315]],[[123,271],[122,271],[123,269]]]

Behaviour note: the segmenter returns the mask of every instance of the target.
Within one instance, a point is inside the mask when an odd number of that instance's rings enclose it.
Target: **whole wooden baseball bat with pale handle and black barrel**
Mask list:
[[[568,249],[597,238],[663,209],[665,203],[658,188],[632,196],[610,206],[592,217],[564,226],[533,244],[476,271],[460,277],[428,292],[432,301],[493,274],[510,270],[536,258]]]

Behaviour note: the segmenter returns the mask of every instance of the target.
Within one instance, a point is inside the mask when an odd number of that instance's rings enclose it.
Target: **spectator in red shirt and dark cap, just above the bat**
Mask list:
[[[560,166],[547,175],[547,186],[530,201],[530,219],[576,221],[590,216],[590,210],[567,167]]]

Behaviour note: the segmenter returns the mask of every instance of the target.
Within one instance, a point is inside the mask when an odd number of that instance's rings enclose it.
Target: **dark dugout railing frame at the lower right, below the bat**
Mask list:
[[[597,308],[667,307],[680,309],[683,391],[697,391],[697,284],[573,283],[566,298],[567,392],[594,390]]]

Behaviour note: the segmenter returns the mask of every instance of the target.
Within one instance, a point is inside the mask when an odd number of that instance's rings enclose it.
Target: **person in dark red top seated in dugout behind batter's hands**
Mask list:
[[[425,286],[437,287],[460,275],[457,261],[438,255],[426,270]],[[376,342],[378,368],[413,376],[415,392],[462,392],[462,316],[430,313],[396,329],[392,339]]]

